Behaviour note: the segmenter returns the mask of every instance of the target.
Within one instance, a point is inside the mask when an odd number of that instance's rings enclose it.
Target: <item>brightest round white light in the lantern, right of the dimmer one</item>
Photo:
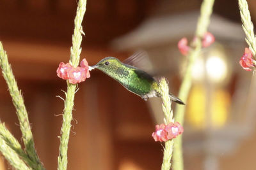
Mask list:
[[[221,57],[211,56],[205,65],[207,77],[214,83],[219,83],[227,77],[227,64]]]

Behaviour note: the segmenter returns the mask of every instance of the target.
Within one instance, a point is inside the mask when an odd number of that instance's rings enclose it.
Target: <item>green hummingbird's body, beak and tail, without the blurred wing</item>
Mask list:
[[[161,97],[159,83],[153,76],[145,71],[120,62],[115,57],[106,57],[100,60],[92,69],[99,69],[108,76],[118,81],[125,89],[137,94],[142,99],[147,101],[150,97]],[[172,101],[184,104],[178,97],[169,94]]]

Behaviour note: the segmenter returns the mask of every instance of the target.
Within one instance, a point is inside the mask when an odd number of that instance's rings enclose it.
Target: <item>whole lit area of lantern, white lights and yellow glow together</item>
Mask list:
[[[230,94],[223,85],[230,78],[229,68],[222,46],[202,52],[195,60],[191,70],[194,85],[186,108],[186,121],[193,127],[222,127],[227,122]]]

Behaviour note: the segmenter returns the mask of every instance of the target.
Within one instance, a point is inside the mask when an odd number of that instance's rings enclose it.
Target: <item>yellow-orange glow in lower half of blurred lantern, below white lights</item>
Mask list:
[[[212,127],[221,127],[227,122],[230,108],[230,94],[223,89],[215,89],[207,98],[203,86],[194,85],[189,94],[186,121],[198,129],[206,127],[206,113],[210,110]],[[211,101],[210,108],[205,108],[206,101]],[[208,110],[207,110],[208,109]]]

